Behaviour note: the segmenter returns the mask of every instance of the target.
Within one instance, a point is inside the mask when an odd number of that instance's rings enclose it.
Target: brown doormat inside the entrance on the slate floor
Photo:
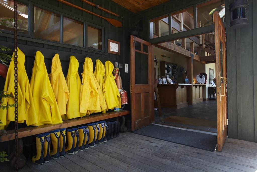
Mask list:
[[[215,121],[215,120],[208,120],[208,119],[169,116],[167,118],[164,118],[163,121],[176,122],[176,123],[188,124],[188,125],[196,125],[196,126],[202,126],[202,127],[217,128],[217,120]]]

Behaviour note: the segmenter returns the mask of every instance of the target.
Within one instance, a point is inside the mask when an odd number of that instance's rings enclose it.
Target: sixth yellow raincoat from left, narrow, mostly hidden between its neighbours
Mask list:
[[[102,93],[103,93],[103,86],[104,86],[104,72],[105,72],[104,64],[100,60],[97,59],[94,75],[96,77],[96,81],[99,84],[100,90]],[[106,105],[104,96],[102,96],[102,95],[103,94],[101,94],[100,102],[102,102],[101,104],[103,104],[103,106],[101,106],[102,112],[105,113],[106,110],[108,110],[108,109],[106,109],[107,105]],[[106,108],[104,108],[104,107],[106,107]]]

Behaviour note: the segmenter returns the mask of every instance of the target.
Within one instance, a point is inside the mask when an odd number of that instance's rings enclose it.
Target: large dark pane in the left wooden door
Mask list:
[[[148,55],[135,52],[135,84],[148,84]]]

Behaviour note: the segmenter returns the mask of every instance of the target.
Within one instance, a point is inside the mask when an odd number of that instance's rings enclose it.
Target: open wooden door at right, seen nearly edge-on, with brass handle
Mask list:
[[[215,23],[216,49],[216,88],[217,88],[217,147],[222,150],[227,137],[227,64],[226,34],[223,22],[216,11],[213,14]]]

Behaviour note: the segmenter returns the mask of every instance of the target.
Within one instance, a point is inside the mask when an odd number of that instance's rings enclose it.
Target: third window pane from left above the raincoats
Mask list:
[[[63,17],[63,43],[84,46],[84,23]]]

